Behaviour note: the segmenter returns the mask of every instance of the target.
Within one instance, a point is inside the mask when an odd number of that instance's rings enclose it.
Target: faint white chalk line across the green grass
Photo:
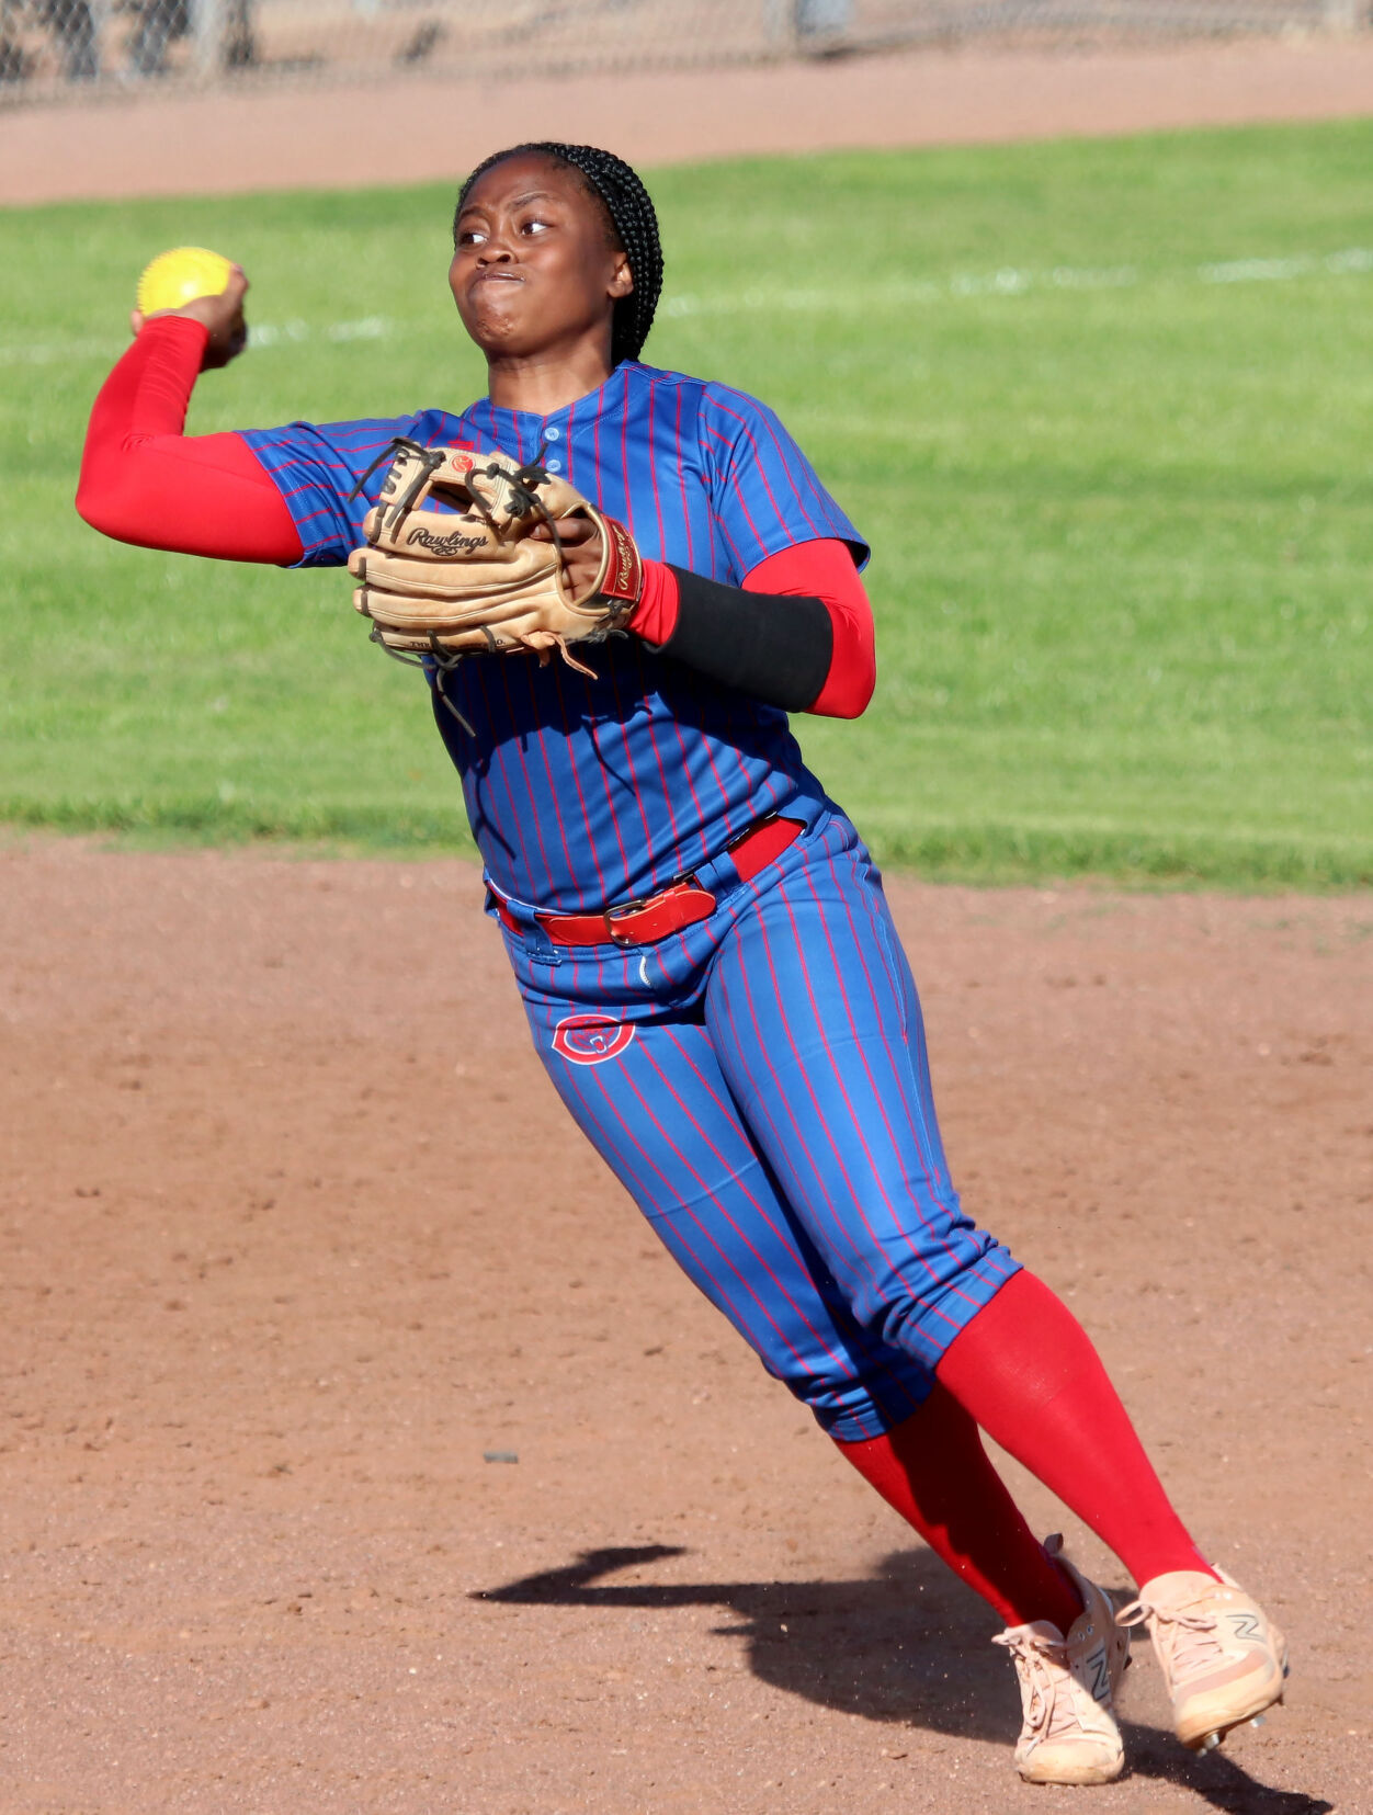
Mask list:
[[[1184,280],[1193,283],[1286,283],[1293,278],[1353,278],[1373,274],[1373,250],[1346,247],[1340,252],[1302,252],[1293,258],[1237,258],[1220,263],[1193,265]],[[1135,265],[1113,265],[1101,270],[1077,265],[1053,265],[1050,270],[1026,270],[1003,265],[990,272],[955,272],[952,278],[917,278],[879,283],[855,296],[852,285],[834,289],[748,289],[719,296],[668,296],[661,314],[665,319],[690,316],[737,316],[761,310],[790,314],[843,314],[859,301],[864,309],[901,309],[910,303],[939,303],[977,296],[1026,296],[1032,290],[1122,290],[1141,283],[1168,283],[1170,272],[1144,272]],[[405,334],[425,332],[430,323],[392,321],[387,316],[363,316],[358,321],[329,321],[311,327],[309,321],[252,323],[249,352],[274,347],[300,347],[305,341],[400,339]],[[120,354],[116,339],[67,341],[11,341],[0,343],[0,365],[54,365],[60,359],[113,359]]]

